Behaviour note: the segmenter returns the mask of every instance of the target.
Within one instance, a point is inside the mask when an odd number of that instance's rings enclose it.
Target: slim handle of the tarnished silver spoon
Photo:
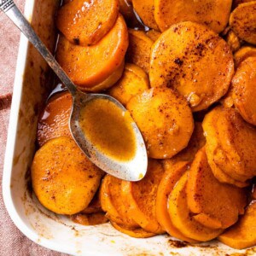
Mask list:
[[[39,53],[47,61],[49,67],[51,67],[55,74],[61,79],[63,84],[67,86],[67,89],[72,95],[77,92],[76,86],[73,84],[71,79],[68,78],[67,73],[61,68],[59,63],[55,61],[55,58],[46,48],[44,43],[38,38],[38,35],[32,29],[32,26],[26,20],[26,18],[21,14],[20,9],[17,8],[13,0],[0,0],[0,9],[12,20],[16,26],[19,27],[20,31],[26,36],[26,38],[33,44],[33,46],[38,49]]]

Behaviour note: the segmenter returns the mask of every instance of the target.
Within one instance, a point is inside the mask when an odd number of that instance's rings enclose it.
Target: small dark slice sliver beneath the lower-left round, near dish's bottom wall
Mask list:
[[[105,216],[105,212],[77,213],[71,215],[70,218],[73,222],[85,226],[99,225],[108,222],[108,218]]]

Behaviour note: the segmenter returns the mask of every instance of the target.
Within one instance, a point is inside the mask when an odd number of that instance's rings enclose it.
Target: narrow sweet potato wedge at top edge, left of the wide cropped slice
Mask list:
[[[132,5],[146,26],[159,30],[154,20],[154,0],[132,0]]]

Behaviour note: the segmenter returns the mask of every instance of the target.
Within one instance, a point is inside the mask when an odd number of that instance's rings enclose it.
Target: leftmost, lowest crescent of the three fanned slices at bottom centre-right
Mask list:
[[[188,170],[188,164],[188,162],[178,162],[173,164],[170,163],[170,160],[164,160],[165,173],[161,178],[156,195],[156,218],[162,228],[166,230],[170,236],[174,236],[183,241],[195,242],[195,240],[183,236],[183,234],[177,230],[172,224],[172,219],[167,211],[168,195],[172,192],[172,189],[179,178]]]

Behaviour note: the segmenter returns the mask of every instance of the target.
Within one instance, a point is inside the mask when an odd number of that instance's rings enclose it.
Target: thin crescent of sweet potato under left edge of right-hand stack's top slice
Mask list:
[[[226,154],[224,154],[224,150],[221,147],[221,144],[219,143],[218,131],[216,129],[216,123],[221,112],[221,107],[213,108],[211,112],[207,113],[202,123],[204,134],[207,139],[207,160],[209,165],[211,166],[213,175],[218,179],[219,182],[230,183],[236,185],[237,187],[243,188],[246,187],[248,183],[236,180],[236,178],[230,177],[229,174],[224,172],[224,170],[227,169],[227,166],[230,166],[230,163],[227,159]],[[217,164],[219,157],[224,158],[223,162],[225,163],[225,166],[219,166]]]

